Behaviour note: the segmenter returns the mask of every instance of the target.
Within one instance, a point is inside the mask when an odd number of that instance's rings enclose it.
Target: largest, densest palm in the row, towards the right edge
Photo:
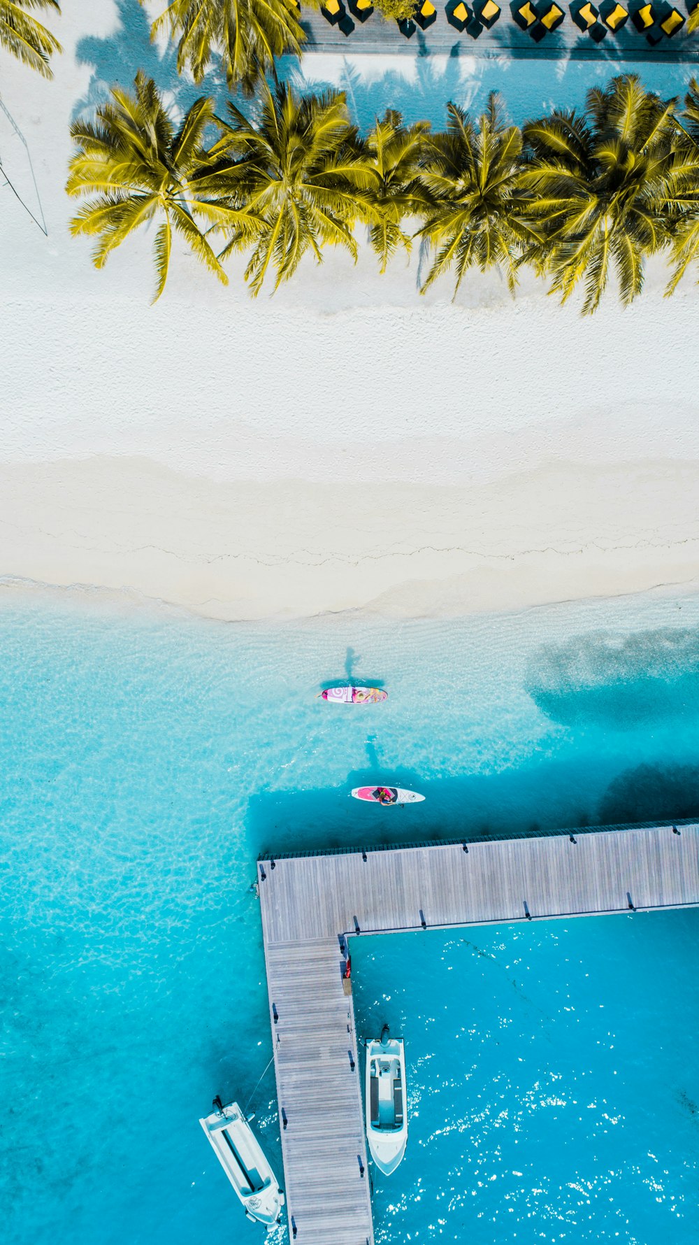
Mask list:
[[[585,280],[583,314],[598,306],[612,270],[622,303],[631,303],[643,288],[644,258],[668,242],[668,202],[683,178],[673,107],[629,73],[588,91],[585,117],[556,111],[524,128],[522,184],[544,235],[529,258],[552,273],[551,291],[562,301]]]

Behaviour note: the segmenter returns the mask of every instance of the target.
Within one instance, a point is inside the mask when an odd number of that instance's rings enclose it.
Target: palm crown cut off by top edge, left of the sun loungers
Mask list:
[[[195,82],[218,51],[229,87],[251,91],[261,75],[274,73],[275,56],[301,54],[306,35],[297,11],[292,0],[172,0],[150,35],[167,30],[179,41],[178,71],[189,66]]]

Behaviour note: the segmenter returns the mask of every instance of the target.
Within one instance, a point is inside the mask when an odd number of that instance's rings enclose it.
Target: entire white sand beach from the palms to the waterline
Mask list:
[[[241,263],[223,289],[178,253],[150,306],[152,237],[97,273],[67,233],[68,125],[95,90],[76,45],[117,25],[111,0],[66,12],[53,82],[2,57],[49,227],[5,188],[7,583],[127,590],[221,619],[439,616],[692,585],[690,284],[663,300],[658,269],[631,309],[609,298],[583,320],[529,281],[512,303],[495,276],[455,305],[449,285],[420,298],[417,251],[384,278],[368,253],[356,268],[330,254],[252,301]],[[4,116],[0,143],[36,210]]]

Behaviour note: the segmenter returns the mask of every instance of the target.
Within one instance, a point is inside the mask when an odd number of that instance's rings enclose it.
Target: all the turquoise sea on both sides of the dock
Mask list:
[[[389,700],[313,698],[346,671]],[[257,1239],[197,1123],[271,1055],[257,852],[699,814],[698,686],[693,598],[277,629],[10,598],[4,1243]],[[378,777],[428,798],[347,798]],[[361,1028],[410,1058],[379,1241],[695,1239],[698,920],[357,947]],[[280,1167],[270,1072],[251,1107]]]

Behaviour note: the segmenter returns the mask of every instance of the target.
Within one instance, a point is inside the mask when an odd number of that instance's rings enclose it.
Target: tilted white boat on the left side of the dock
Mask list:
[[[260,1143],[236,1102],[224,1107],[214,1099],[214,1111],[199,1123],[214,1147],[219,1163],[235,1189],[248,1219],[265,1224],[267,1231],[281,1215],[284,1193],[262,1154]]]

